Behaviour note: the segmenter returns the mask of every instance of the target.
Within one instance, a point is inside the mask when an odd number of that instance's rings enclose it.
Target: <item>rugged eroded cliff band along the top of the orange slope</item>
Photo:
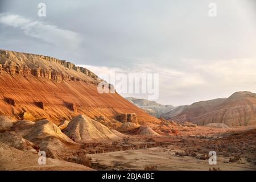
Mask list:
[[[90,72],[86,68],[76,67],[75,64],[59,60],[55,57],[43,56],[43,55],[34,55],[28,53],[19,53],[14,51],[5,51],[0,50],[0,73],[9,73],[10,75],[21,75],[21,76],[35,76],[43,77],[48,80],[53,81],[64,81],[64,80],[73,80],[73,81],[88,81],[79,76],[71,76],[67,72],[61,72],[56,70],[53,67],[47,67],[44,64],[38,63],[38,60],[42,60],[46,65],[47,62],[53,64],[59,64],[61,67],[80,72],[94,80],[94,82],[102,81],[95,75],[93,72]],[[55,64],[55,65],[56,65]]]

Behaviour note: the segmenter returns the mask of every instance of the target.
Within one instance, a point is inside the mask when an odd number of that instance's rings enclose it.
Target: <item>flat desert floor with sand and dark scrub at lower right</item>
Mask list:
[[[222,131],[212,135],[155,137],[151,140],[161,141],[163,146],[89,156],[92,167],[98,170],[143,170],[146,166],[155,166],[157,170],[256,170],[256,130]],[[143,140],[148,138],[131,139],[131,143]],[[208,161],[212,150],[217,152],[216,165]]]

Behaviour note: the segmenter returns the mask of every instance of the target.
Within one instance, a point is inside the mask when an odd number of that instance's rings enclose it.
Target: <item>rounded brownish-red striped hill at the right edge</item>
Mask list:
[[[227,99],[212,101],[192,104],[172,119],[177,122],[190,121],[198,125],[209,123],[224,123],[227,126],[256,125],[255,93],[236,92]]]

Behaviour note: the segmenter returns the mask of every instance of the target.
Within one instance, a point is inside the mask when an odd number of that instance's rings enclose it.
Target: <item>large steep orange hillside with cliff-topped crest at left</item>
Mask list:
[[[16,65],[7,67],[11,64]],[[98,93],[97,82],[100,80],[97,76],[85,68],[76,67],[77,72],[70,62],[42,55],[0,51],[0,65],[2,115],[22,119],[20,115],[26,111],[35,119],[47,118],[59,124],[59,121],[71,119],[77,114],[90,118],[103,116],[106,121],[111,121],[119,114],[135,113],[138,122],[143,125],[160,123],[159,119],[144,113],[118,93]],[[23,71],[14,71],[17,66],[24,68]],[[36,67],[44,72],[39,74],[35,71]],[[79,79],[69,79],[72,77]],[[5,102],[5,98],[12,98],[15,106]],[[42,102],[43,105],[38,106],[35,102]],[[67,103],[72,106],[67,107]],[[47,105],[46,109],[42,109],[44,105]]]

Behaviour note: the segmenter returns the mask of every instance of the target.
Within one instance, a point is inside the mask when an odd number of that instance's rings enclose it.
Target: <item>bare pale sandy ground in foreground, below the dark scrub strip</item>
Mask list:
[[[155,147],[142,150],[117,151],[105,154],[92,154],[98,169],[143,170],[145,166],[156,166],[158,170],[209,170],[215,167],[221,170],[256,170],[256,166],[247,163],[228,163],[229,158],[218,157],[217,164],[210,165],[208,160],[200,160],[191,156],[176,156],[175,151],[168,148]],[[102,167],[102,168],[101,168]]]

